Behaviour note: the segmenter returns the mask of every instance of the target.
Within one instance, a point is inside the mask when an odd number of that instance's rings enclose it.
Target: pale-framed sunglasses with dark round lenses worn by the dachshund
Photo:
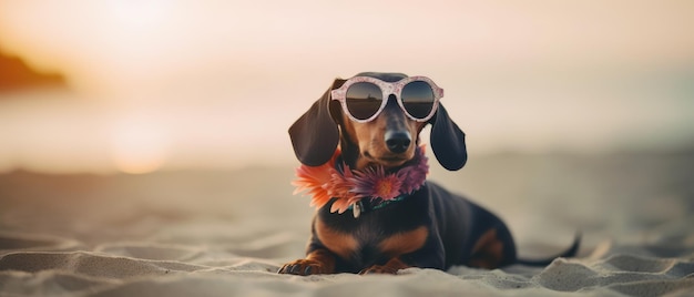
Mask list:
[[[443,89],[426,76],[410,76],[397,82],[355,76],[330,92],[331,99],[340,102],[349,119],[358,123],[376,119],[388,104],[390,94],[396,96],[409,119],[426,122],[436,113]]]

